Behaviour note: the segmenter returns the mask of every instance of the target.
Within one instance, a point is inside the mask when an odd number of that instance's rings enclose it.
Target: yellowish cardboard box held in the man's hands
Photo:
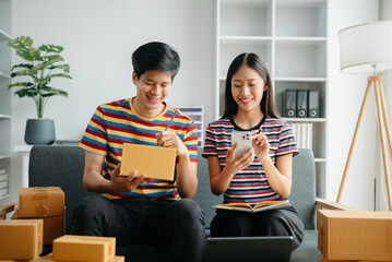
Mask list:
[[[121,176],[129,176],[138,170],[147,178],[173,181],[175,179],[176,150],[124,143],[121,156]]]

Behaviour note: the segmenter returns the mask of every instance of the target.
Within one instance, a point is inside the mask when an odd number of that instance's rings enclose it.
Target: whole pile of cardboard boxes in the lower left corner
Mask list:
[[[115,257],[116,238],[63,236],[64,192],[58,187],[21,188],[11,221],[0,219],[0,262],[123,262]],[[43,245],[54,253],[39,257]]]

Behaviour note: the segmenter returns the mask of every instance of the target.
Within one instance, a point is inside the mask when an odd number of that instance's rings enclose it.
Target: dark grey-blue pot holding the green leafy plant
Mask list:
[[[52,144],[56,140],[55,120],[27,119],[24,142],[31,145]]]

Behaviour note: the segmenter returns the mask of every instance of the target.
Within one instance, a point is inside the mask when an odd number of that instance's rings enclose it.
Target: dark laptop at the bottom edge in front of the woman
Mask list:
[[[207,238],[204,261],[288,262],[293,241],[290,236]]]

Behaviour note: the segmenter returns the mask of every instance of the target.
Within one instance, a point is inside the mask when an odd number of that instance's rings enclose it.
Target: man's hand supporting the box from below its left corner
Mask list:
[[[145,178],[145,174],[136,177],[136,170],[132,171],[128,177],[120,176],[120,165],[121,164],[119,164],[110,174],[112,192],[133,192],[139,184],[150,180],[149,178]]]

